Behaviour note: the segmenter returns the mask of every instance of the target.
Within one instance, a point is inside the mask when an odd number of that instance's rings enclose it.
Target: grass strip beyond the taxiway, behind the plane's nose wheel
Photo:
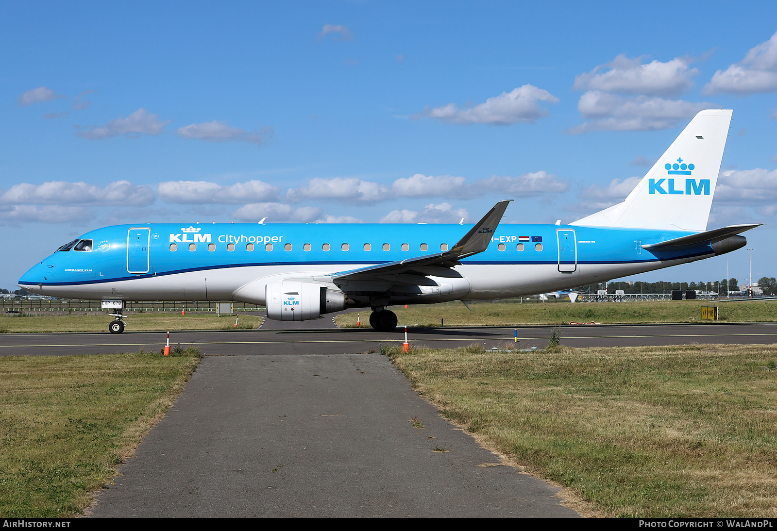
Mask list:
[[[148,312],[131,314],[124,320],[127,331],[141,330],[232,330],[235,328],[237,315],[186,314],[180,312]],[[71,331],[108,331],[108,323],[113,318],[110,315],[89,312],[80,315],[33,315],[0,314],[0,333],[23,332],[71,332]],[[263,318],[256,315],[241,314],[237,328],[256,329],[262,324]]]

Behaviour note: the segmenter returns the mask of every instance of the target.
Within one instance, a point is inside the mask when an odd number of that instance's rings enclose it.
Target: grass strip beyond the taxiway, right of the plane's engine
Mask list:
[[[629,303],[479,303],[472,311],[461,303],[423,304],[391,307],[399,325],[422,327],[467,325],[569,325],[570,322],[613,323],[694,323],[700,322],[702,306],[717,306],[724,322],[777,321],[777,300],[764,302],[718,303],[677,300]],[[361,328],[369,327],[369,309],[361,312]],[[357,314],[338,315],[341,328],[356,326]],[[709,321],[713,322],[713,321]]]

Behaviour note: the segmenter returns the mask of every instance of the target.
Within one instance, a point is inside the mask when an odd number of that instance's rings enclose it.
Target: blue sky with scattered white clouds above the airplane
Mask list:
[[[537,4],[0,2],[0,287],[110,224],[570,222],[708,107],[709,228],[777,276],[777,4]]]

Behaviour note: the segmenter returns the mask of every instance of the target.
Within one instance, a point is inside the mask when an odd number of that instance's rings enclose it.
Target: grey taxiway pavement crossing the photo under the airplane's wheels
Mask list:
[[[378,332],[371,328],[301,328],[320,321],[294,323],[295,327],[260,328],[259,330],[174,331],[171,345],[197,345],[204,354],[280,355],[343,354],[379,351],[382,345],[401,343],[404,334]],[[284,324],[285,325],[285,324]],[[290,324],[291,325],[291,324]],[[521,349],[543,348],[554,328],[560,328],[563,345],[639,346],[685,345],[690,343],[771,344],[777,342],[777,323],[710,323],[698,325],[575,325],[481,328],[408,328],[412,345],[455,347],[482,343],[486,348],[506,343]],[[56,334],[2,334],[0,356],[73,354],[108,354],[137,352],[138,349],[160,350],[166,332],[133,332],[111,335],[107,332]]]

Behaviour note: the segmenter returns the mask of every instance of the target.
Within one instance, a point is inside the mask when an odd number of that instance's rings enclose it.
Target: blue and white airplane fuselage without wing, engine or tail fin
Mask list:
[[[468,230],[458,224],[117,225],[54,252],[19,286],[55,297],[241,300],[235,293],[257,279],[326,275],[445,251]],[[686,234],[692,233],[500,224],[485,252],[456,266],[469,286],[454,288],[448,299],[396,294],[392,303],[530,295],[715,254],[710,245],[663,253],[642,247]]]

